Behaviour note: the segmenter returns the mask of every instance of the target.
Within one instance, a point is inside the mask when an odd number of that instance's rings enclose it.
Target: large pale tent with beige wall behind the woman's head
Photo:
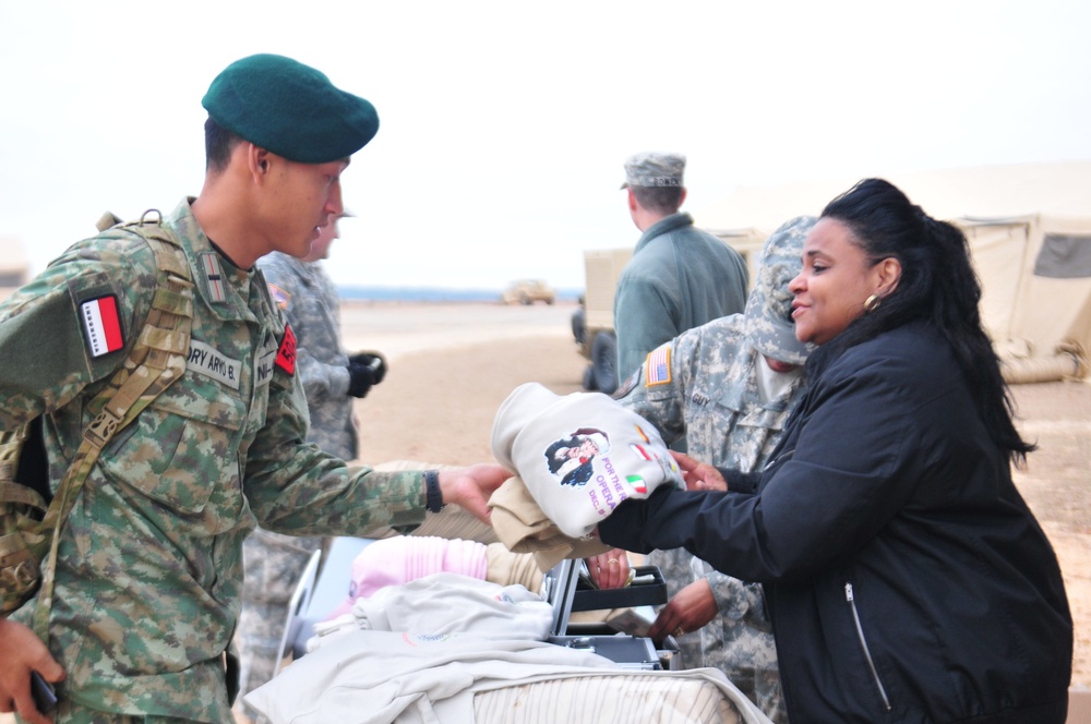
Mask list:
[[[982,316],[1009,382],[1087,375],[1091,161],[873,176],[966,232],[982,282]],[[768,233],[801,214],[817,216],[859,180],[740,188],[694,216],[714,233],[741,227]]]

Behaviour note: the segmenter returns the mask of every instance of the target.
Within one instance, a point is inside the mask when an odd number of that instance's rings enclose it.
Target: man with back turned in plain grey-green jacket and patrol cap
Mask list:
[[[656,347],[727,314],[743,311],[746,265],[733,249],[680,213],[685,156],[639,153],[625,161],[627,205],[643,233],[618,280],[614,333],[624,378]],[[612,393],[613,389],[603,389]]]

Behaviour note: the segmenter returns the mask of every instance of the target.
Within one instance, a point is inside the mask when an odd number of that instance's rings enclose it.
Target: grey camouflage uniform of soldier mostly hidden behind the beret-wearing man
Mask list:
[[[296,364],[311,418],[309,443],[344,460],[358,455],[355,398],[348,395],[348,355],[341,349],[340,300],[321,262],[273,252],[257,263],[274,302],[296,333]],[[273,678],[291,599],[320,538],[292,538],[261,530],[242,546],[245,579],[236,643],[241,659],[240,696]],[[249,707],[245,714],[254,717]]]

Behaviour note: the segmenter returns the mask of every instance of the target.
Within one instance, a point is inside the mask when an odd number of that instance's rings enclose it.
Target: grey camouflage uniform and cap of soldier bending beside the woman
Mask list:
[[[787,387],[763,401],[758,365],[765,364],[763,354],[802,364],[810,351],[795,340],[788,282],[802,267],[803,241],[814,222],[811,217],[793,219],[769,237],[744,314],[668,342],[657,350],[666,351],[667,369],[642,365],[620,391],[621,403],[656,424],[664,439],[685,435],[697,460],[745,472],[760,469],[803,397],[800,369]],[[760,584],[712,570],[683,548],[656,551],[649,559],[663,570],[671,596],[707,578],[716,599],[719,615],[680,637],[683,665],[720,668],[766,715],[787,722]]]

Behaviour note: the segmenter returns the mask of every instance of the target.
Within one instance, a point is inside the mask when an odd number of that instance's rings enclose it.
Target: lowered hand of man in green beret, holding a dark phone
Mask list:
[[[64,678],[64,669],[34,631],[16,622],[0,619],[0,712],[14,711],[24,722],[49,724],[52,717],[38,711],[31,695],[32,671],[51,683]]]

